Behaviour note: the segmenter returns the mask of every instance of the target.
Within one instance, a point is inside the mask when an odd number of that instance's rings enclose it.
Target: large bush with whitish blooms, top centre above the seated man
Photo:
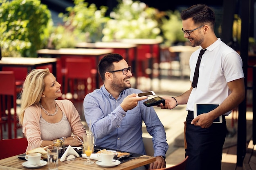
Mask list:
[[[159,11],[147,7],[145,3],[132,0],[119,0],[117,7],[110,13],[103,29],[102,41],[122,38],[162,38],[159,29]]]

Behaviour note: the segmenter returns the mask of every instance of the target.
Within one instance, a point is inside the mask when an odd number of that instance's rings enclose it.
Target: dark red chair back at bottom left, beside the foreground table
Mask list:
[[[26,138],[0,140],[0,150],[1,150],[0,159],[25,153],[26,149],[27,149]]]

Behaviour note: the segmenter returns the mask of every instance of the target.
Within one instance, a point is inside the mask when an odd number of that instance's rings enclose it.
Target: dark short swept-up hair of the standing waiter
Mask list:
[[[182,20],[192,18],[196,25],[203,25],[207,23],[212,27],[212,29],[215,24],[215,13],[205,4],[196,4],[183,10],[180,13],[180,18]]]

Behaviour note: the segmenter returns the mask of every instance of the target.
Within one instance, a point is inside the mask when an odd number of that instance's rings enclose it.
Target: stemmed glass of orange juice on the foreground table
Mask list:
[[[92,133],[88,133],[87,135],[83,135],[83,152],[86,155],[87,161],[85,164],[90,165],[94,162],[90,161],[90,156],[94,151],[94,137]]]

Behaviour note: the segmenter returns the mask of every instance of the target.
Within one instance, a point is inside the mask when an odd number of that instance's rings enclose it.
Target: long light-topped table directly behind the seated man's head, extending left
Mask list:
[[[38,56],[45,56],[48,57],[94,57],[96,59],[95,68],[97,69],[97,65],[99,63],[99,59],[101,56],[112,53],[112,49],[58,49],[58,50],[51,50],[51,49],[40,49],[36,51]],[[65,66],[63,66],[65,67]],[[96,88],[99,88],[99,74],[96,74]]]

